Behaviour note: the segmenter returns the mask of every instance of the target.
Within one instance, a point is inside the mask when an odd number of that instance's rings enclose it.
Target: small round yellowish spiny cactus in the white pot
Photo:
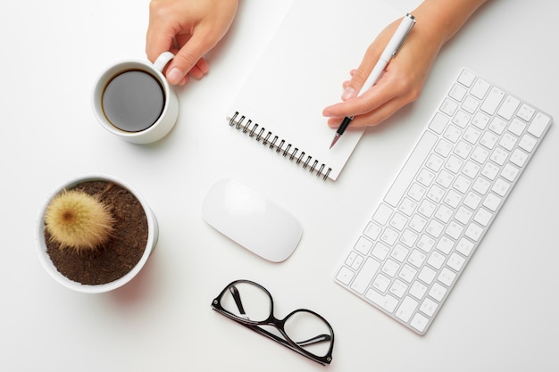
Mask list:
[[[45,227],[61,249],[95,250],[113,234],[114,219],[96,196],[79,190],[64,190],[45,211]]]

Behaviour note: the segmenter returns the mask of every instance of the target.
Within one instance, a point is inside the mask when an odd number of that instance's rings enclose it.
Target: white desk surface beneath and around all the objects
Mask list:
[[[416,2],[394,4],[406,12]],[[332,274],[461,66],[559,119],[559,3],[485,5],[446,45],[421,98],[368,130],[336,183],[263,151],[225,122],[290,2],[240,3],[229,36],[210,56],[211,73],[178,89],[179,121],[154,145],[113,137],[89,103],[105,65],[145,58],[147,0],[4,4],[0,369],[325,370],[211,310],[224,285],[249,278],[270,289],[276,316],[304,307],[330,320],[331,371],[557,370],[556,123],[427,335],[357,299]],[[132,283],[86,295],[47,276],[33,232],[50,191],[96,171],[137,186],[161,234]],[[303,238],[287,261],[266,262],[204,222],[204,194],[219,178],[251,186],[300,219]]]

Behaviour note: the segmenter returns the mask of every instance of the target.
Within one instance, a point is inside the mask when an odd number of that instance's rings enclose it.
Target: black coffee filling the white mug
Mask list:
[[[127,132],[139,132],[154,125],[163,112],[163,87],[151,74],[129,70],[115,76],[104,88],[104,116]]]

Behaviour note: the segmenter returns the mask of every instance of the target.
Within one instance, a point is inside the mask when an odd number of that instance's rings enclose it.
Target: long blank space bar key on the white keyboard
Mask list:
[[[390,186],[388,193],[384,197],[384,201],[394,208],[397,207],[402,195],[404,195],[407,187],[410,186],[415,174],[420,169],[421,164],[425,161],[427,155],[429,155],[431,148],[437,142],[438,136],[426,130],[421,136],[420,141],[417,143],[413,149],[413,153],[410,154],[407,161],[405,161],[404,167],[400,170],[400,173],[396,177],[395,181]]]

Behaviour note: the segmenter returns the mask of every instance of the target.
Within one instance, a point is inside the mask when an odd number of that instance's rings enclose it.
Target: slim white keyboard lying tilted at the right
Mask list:
[[[336,282],[424,335],[551,123],[462,70]]]

